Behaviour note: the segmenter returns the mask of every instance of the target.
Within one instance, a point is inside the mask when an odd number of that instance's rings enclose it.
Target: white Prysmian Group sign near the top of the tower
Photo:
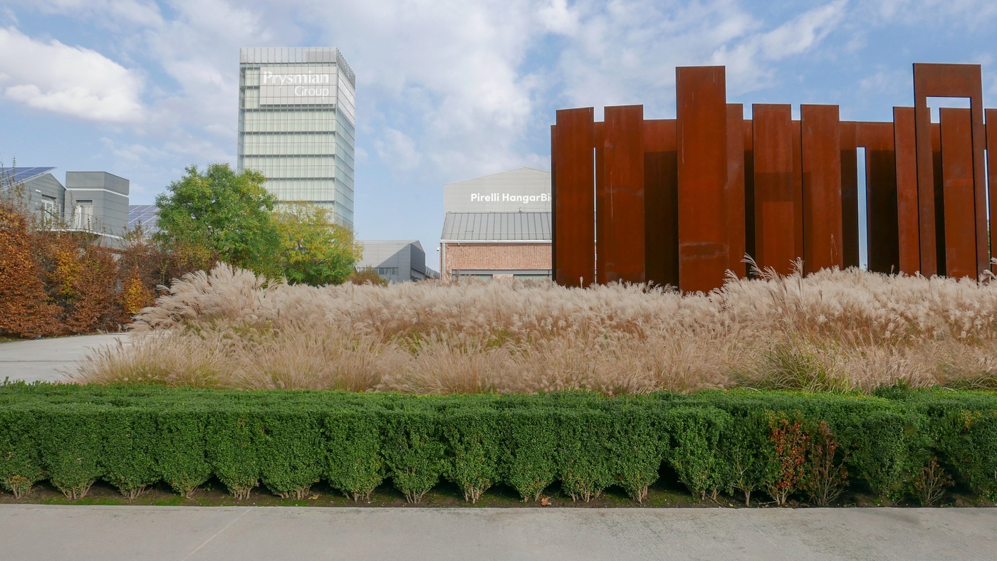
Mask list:
[[[335,67],[283,67],[259,74],[259,105],[332,105],[336,103]]]

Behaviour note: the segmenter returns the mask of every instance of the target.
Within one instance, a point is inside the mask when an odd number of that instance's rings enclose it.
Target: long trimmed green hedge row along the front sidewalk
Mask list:
[[[930,505],[946,489],[997,500],[997,395],[700,392],[429,396],[0,385],[0,484],[49,479],[71,498],[103,479],[134,498],[189,495],[211,476],[302,497],[319,480],[355,500],[384,480],[411,502],[441,479],[477,501],[555,480],[572,499],[635,500],[667,466],[697,496],[828,504],[847,488]],[[755,496],[758,496],[757,494]]]

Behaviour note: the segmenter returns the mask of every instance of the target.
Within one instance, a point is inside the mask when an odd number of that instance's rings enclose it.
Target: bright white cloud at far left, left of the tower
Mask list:
[[[139,75],[104,55],[0,28],[0,89],[28,107],[92,121],[143,118]]]

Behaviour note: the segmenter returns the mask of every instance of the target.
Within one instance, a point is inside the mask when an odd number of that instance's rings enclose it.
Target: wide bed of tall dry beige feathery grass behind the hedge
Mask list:
[[[88,357],[78,380],[412,394],[997,388],[990,279],[763,277],[685,296],[538,281],[316,288],[220,265],[175,282],[134,340]]]

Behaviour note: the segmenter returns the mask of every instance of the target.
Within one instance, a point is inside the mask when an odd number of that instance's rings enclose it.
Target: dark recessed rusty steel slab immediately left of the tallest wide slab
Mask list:
[[[679,286],[678,152],[675,120],[644,121],[644,266],[647,280]]]

